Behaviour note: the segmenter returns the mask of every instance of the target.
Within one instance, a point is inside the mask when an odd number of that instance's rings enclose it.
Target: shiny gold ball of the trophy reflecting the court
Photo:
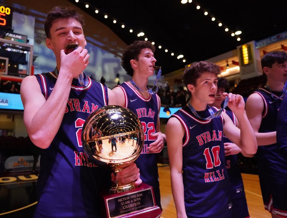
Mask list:
[[[82,129],[83,148],[97,166],[114,169],[134,162],[144,145],[144,131],[129,109],[110,105],[93,112]]]

